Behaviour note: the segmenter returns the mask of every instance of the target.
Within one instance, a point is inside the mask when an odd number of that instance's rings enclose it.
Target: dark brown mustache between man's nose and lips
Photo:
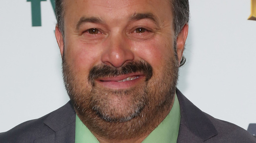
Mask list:
[[[106,64],[94,66],[89,72],[88,79],[89,82],[94,86],[95,79],[97,78],[120,76],[135,72],[143,73],[146,77],[145,81],[148,81],[153,75],[152,66],[145,61],[139,60],[125,63],[118,68]]]

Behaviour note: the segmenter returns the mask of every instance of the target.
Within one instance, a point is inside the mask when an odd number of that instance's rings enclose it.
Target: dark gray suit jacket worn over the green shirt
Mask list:
[[[202,112],[178,89],[181,122],[178,143],[256,143],[256,138],[232,123]],[[39,119],[0,133],[0,143],[74,143],[75,111],[70,102]]]

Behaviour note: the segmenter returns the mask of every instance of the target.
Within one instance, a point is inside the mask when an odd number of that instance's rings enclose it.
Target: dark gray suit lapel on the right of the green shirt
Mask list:
[[[178,89],[181,121],[177,142],[203,142],[218,134],[206,113],[191,103]]]

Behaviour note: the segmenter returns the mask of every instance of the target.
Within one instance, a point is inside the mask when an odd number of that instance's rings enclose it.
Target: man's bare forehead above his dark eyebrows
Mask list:
[[[136,13],[151,13],[159,22],[173,19],[170,0],[65,0],[64,21],[98,17],[118,23]]]

